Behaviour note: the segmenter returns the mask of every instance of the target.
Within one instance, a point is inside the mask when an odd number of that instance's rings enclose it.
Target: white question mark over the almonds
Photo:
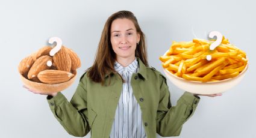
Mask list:
[[[50,56],[54,56],[55,53],[58,52],[58,50],[61,49],[61,46],[62,46],[62,41],[60,38],[58,37],[52,37],[49,39],[49,43],[50,44],[53,44],[54,42],[56,42],[56,46],[50,51]],[[51,61],[47,61],[47,65],[49,67],[52,66],[52,62]]]

